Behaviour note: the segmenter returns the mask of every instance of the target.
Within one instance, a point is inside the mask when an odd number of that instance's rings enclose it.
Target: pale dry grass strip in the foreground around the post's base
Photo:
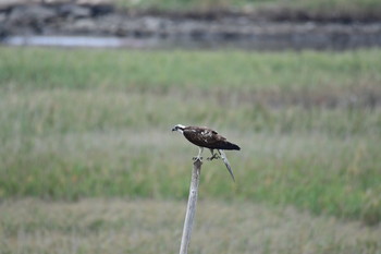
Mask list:
[[[185,202],[150,199],[7,201],[0,253],[175,253],[184,210]],[[380,238],[380,227],[201,199],[190,253],[377,254]]]

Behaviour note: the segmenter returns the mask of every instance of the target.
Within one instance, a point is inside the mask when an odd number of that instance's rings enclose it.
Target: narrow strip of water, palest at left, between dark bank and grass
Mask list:
[[[381,33],[283,33],[225,38],[219,35],[172,37],[100,37],[100,36],[10,36],[2,41],[10,46],[41,46],[66,48],[133,48],[133,49],[318,49],[346,50],[381,47]]]

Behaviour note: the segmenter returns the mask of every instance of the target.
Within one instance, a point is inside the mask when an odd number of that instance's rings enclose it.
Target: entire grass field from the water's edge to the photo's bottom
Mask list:
[[[176,250],[171,241],[181,233],[197,153],[171,133],[176,123],[209,125],[242,147],[228,154],[236,183],[221,161],[202,166],[206,210],[197,220],[206,226],[198,228],[195,253],[380,253],[374,240],[381,235],[380,84],[376,49],[0,48],[0,238],[7,239],[0,253],[149,253],[161,240],[160,253]],[[159,226],[118,222],[140,204],[158,213],[181,209],[176,216],[162,213],[155,223],[167,227],[174,218],[175,225],[146,246],[155,238],[149,230]],[[113,206],[127,213],[116,222],[101,215],[116,213]],[[258,207],[270,217],[255,220]],[[288,222],[282,214],[287,207],[295,216]],[[56,213],[61,209],[73,217]],[[222,215],[208,228],[217,210]],[[145,219],[157,218],[145,213]],[[84,214],[90,221],[82,225]],[[247,221],[258,225],[245,228]],[[260,231],[261,223],[273,231]],[[231,225],[237,239],[228,233]],[[115,239],[130,229],[126,243]],[[211,245],[201,240],[208,230],[219,239]],[[134,239],[143,242],[125,245]]]

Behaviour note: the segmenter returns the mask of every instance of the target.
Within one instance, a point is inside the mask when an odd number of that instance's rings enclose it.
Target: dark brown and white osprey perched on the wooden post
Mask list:
[[[176,124],[172,131],[183,133],[186,140],[198,146],[198,155],[193,158],[194,160],[202,159],[201,154],[204,147],[210,149],[211,157],[207,158],[208,160],[218,159],[221,156],[233,178],[233,181],[235,181],[232,168],[223,150],[239,150],[239,146],[230,143],[225,137],[219,135],[216,131],[205,126],[184,126],[183,124]],[[217,149],[220,156],[217,153],[214,154],[214,149]]]

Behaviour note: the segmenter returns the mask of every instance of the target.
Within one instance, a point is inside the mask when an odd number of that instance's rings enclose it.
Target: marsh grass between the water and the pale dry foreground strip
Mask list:
[[[170,129],[242,146],[204,164],[200,195],[376,225],[381,51],[0,48],[0,196],[186,198],[197,148]]]

